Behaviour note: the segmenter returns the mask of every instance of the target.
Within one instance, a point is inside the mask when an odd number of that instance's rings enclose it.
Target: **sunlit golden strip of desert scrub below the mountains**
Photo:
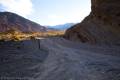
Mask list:
[[[64,35],[65,31],[46,31],[46,32],[21,32],[18,29],[9,29],[6,32],[0,34],[0,40],[25,40],[35,39],[35,37],[60,37]]]

